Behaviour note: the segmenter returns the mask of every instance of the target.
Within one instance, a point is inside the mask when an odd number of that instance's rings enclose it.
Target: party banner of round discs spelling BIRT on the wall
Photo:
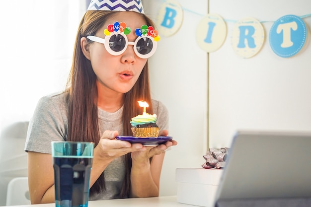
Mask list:
[[[159,33],[162,36],[175,34],[183,21],[184,9],[177,0],[165,0],[157,16]],[[191,11],[196,13],[195,11]],[[302,18],[311,17],[306,14],[301,17],[285,15],[274,21],[269,33],[269,44],[272,51],[282,57],[297,55],[305,46],[308,37],[308,27]],[[251,58],[259,53],[265,41],[265,29],[261,22],[253,17],[245,17],[238,21],[224,20],[219,14],[207,14],[198,22],[196,41],[205,52],[217,51],[226,40],[226,21],[235,22],[230,31],[231,45],[236,55],[241,58]]]

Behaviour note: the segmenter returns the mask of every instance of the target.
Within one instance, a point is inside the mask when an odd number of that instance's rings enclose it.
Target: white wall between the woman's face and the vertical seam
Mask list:
[[[163,1],[143,2],[145,13],[156,21]],[[197,23],[207,14],[207,0],[178,2],[185,9],[182,26],[170,37],[161,36],[150,60],[153,98],[168,108],[169,135],[178,141],[165,155],[161,196],[176,195],[175,169],[200,168],[207,148],[207,54],[195,40]]]

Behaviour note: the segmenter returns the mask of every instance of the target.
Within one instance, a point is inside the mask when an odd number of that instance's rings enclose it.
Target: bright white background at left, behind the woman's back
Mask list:
[[[39,98],[65,88],[84,9],[82,0],[0,1],[0,206],[7,183],[27,176],[23,136]]]

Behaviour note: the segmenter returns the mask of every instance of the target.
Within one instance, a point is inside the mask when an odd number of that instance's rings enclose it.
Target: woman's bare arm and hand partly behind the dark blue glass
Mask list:
[[[105,131],[93,152],[90,187],[108,164],[131,151],[140,150],[141,144],[116,140],[117,131]],[[52,155],[28,151],[28,185],[31,204],[55,202],[54,168]]]

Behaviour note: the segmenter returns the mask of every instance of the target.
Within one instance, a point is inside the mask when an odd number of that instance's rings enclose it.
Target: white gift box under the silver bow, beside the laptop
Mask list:
[[[221,169],[177,168],[177,202],[212,207],[222,173]]]

